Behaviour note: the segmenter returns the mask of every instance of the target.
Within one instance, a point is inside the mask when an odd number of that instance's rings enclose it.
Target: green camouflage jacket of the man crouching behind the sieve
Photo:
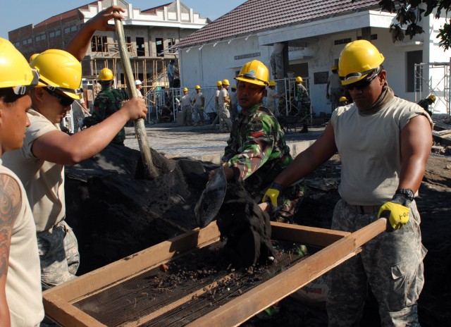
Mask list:
[[[251,192],[261,191],[292,161],[282,128],[261,104],[240,112],[227,144],[221,160],[240,172]]]

